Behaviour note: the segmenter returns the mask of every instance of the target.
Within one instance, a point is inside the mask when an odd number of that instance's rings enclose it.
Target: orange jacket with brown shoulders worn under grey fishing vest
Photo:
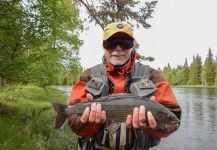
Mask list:
[[[135,62],[136,54],[133,59],[130,59],[121,69],[118,71],[106,60],[105,66],[108,73],[108,78],[114,84],[113,94],[126,93],[125,91],[125,79],[126,73],[129,73]],[[90,80],[90,72],[86,70],[80,76],[80,79],[75,83],[71,95],[69,97],[69,104],[75,104],[77,101],[87,101],[85,86]],[[179,118],[181,116],[181,109],[177,103],[177,100],[172,92],[172,89],[167,81],[165,81],[157,70],[152,70],[151,80],[155,83],[157,90],[154,93],[156,101],[166,105],[172,112],[174,112]],[[99,124],[88,124],[82,129],[78,135],[91,136],[98,132],[100,128]],[[146,129],[149,134],[155,137],[166,137],[168,134],[163,134],[152,129]]]

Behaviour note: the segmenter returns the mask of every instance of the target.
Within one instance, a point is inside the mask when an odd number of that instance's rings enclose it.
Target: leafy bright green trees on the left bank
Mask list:
[[[0,1],[1,85],[70,84],[82,70],[81,29],[71,0]]]

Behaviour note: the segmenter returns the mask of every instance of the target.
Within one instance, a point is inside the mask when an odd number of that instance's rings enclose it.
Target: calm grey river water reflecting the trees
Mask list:
[[[70,89],[64,91],[69,94]],[[151,150],[217,150],[217,89],[173,91],[182,108],[181,126]]]

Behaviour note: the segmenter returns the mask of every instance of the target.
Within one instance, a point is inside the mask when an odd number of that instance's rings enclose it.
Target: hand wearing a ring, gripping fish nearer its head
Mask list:
[[[146,118],[147,117],[147,118]],[[126,126],[128,128],[142,128],[149,125],[152,129],[157,126],[156,120],[153,114],[148,111],[145,112],[145,106],[141,105],[139,108],[135,107],[132,115],[127,116]]]

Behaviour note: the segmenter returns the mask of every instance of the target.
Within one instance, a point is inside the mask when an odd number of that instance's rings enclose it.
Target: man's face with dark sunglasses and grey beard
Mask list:
[[[126,35],[114,36],[103,43],[105,57],[114,66],[125,64],[133,51],[133,39]]]

